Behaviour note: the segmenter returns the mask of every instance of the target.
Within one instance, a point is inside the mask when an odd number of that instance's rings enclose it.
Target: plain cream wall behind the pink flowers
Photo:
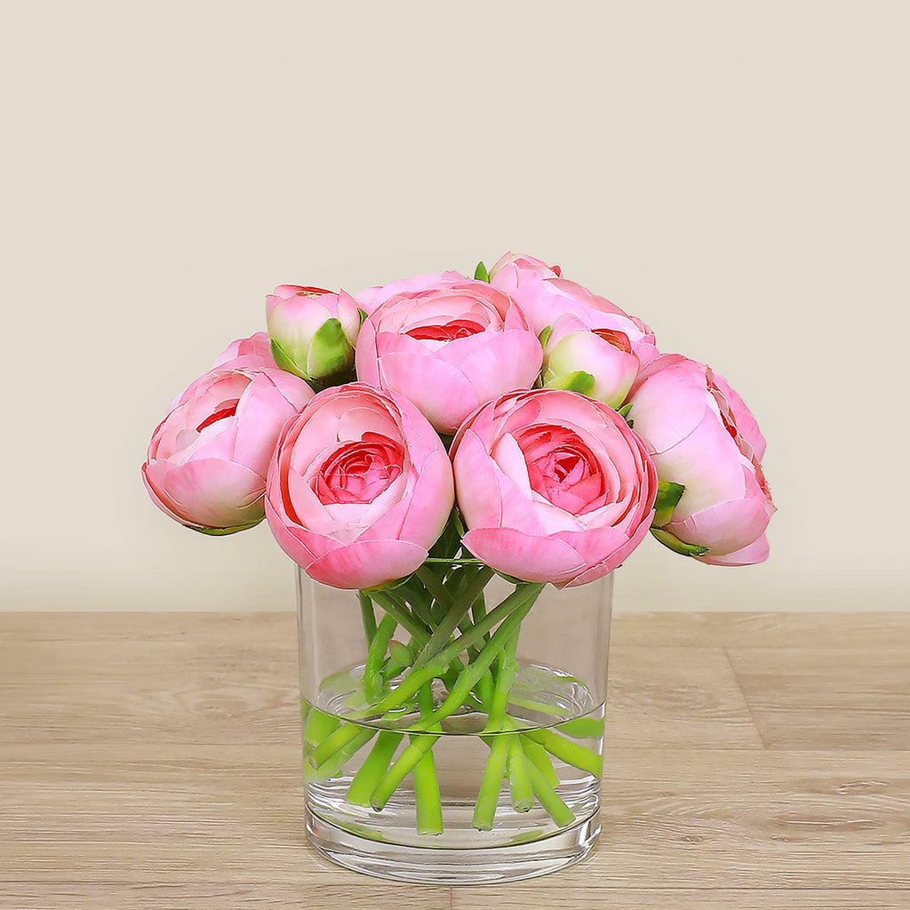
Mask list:
[[[903,3],[30,3],[0,27],[2,607],[290,609],[265,525],[139,479],[167,401],[281,282],[506,248],[721,371],[772,558],[646,541],[621,610],[906,607]]]

